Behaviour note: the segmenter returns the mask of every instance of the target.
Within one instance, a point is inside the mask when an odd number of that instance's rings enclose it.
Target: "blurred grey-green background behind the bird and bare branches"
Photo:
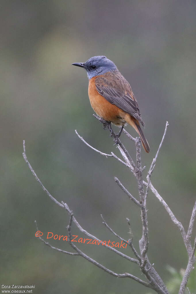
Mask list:
[[[130,218],[138,248],[140,211],[115,184],[117,176],[138,197],[137,182],[113,158],[113,140],[93,118],[88,79],[73,62],[106,55],[130,82],[151,151],[142,151],[144,177],[166,120],[170,125],[152,183],[187,229],[195,202],[195,1],[1,1],[1,283],[35,284],[33,293],[149,293],[130,279],[110,276],[81,257],[58,253],[35,237],[34,220],[47,232],[66,235],[68,215],[42,191],[22,157],[58,201],[68,203],[80,224],[102,240],[123,238]],[[131,127],[127,130],[134,136]],[[135,158],[135,148],[122,141]],[[150,192],[149,258],[166,283],[180,273],[187,254],[179,230]],[[73,225],[72,233],[84,237]],[[194,229],[194,233],[196,230]],[[50,241],[71,250],[67,242]],[[109,250],[79,246],[118,273],[144,279],[135,264]],[[122,252],[133,256],[126,248]],[[195,291],[195,272],[190,291]],[[176,291],[176,292],[175,292]],[[192,293],[191,292],[191,293]],[[171,293],[177,293],[173,290]]]

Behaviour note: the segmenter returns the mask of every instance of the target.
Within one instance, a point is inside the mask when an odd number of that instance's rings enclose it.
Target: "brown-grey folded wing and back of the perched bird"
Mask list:
[[[95,79],[95,86],[100,95],[107,101],[129,113],[144,126],[138,102],[133,95],[128,81],[119,71],[108,72],[104,76],[98,76]]]

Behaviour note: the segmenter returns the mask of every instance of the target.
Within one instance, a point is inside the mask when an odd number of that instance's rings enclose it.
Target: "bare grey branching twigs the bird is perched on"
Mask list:
[[[104,121],[103,118],[99,118],[98,116],[94,115],[100,123],[103,123],[104,129],[108,129],[110,130],[110,124],[107,121]],[[99,240],[96,236],[93,236],[92,234],[88,233],[86,230],[84,230],[82,228],[82,226],[78,223],[78,221],[76,220],[76,218],[73,216],[73,212],[71,211],[71,209],[68,207],[68,205],[66,203],[64,203],[63,201],[58,202],[49,192],[48,190],[43,186],[42,182],[40,181],[40,179],[38,178],[38,176],[36,175],[36,173],[34,172],[33,168],[31,167],[31,164],[29,163],[27,156],[26,156],[26,150],[25,150],[25,141],[23,141],[23,157],[24,160],[26,161],[29,169],[31,170],[33,176],[36,178],[36,181],[38,181],[38,183],[40,184],[41,188],[43,189],[43,191],[46,192],[46,194],[51,198],[51,200],[53,200],[56,204],[58,204],[58,206],[60,206],[61,208],[65,209],[68,214],[69,214],[69,223],[67,226],[67,230],[68,230],[68,243],[70,245],[70,247],[72,248],[73,251],[75,252],[68,252],[56,247],[53,247],[52,245],[50,245],[48,242],[46,242],[45,240],[43,240],[40,236],[38,236],[37,238],[39,240],[41,240],[45,245],[49,246],[51,249],[53,250],[57,250],[58,252],[64,253],[64,254],[68,254],[68,255],[76,255],[76,256],[81,256],[83,258],[85,258],[86,260],[88,260],[90,263],[93,263],[94,265],[96,265],[98,268],[104,270],[105,272],[109,273],[110,275],[113,275],[115,277],[118,278],[130,278],[132,280],[134,280],[137,283],[142,284],[144,287],[147,288],[151,288],[153,289],[156,293],[158,294],[169,294],[163,280],[160,278],[159,274],[157,273],[157,271],[154,268],[154,263],[150,263],[149,258],[148,258],[148,248],[149,248],[149,235],[148,235],[148,216],[147,216],[147,200],[148,200],[148,193],[149,190],[152,191],[152,193],[154,194],[154,196],[160,201],[160,203],[163,205],[163,207],[165,208],[165,210],[167,211],[169,217],[171,218],[172,222],[175,223],[175,225],[177,226],[177,228],[180,230],[180,233],[182,235],[182,240],[184,242],[186,251],[187,251],[187,256],[188,256],[188,263],[187,263],[187,267],[184,273],[184,276],[182,278],[182,282],[180,285],[180,289],[178,294],[184,294],[185,293],[185,289],[186,289],[186,285],[187,285],[187,281],[188,278],[190,277],[190,273],[192,271],[192,269],[194,268],[194,264],[195,264],[195,250],[196,250],[196,236],[194,238],[194,243],[193,246],[191,244],[192,242],[192,233],[193,233],[193,226],[195,223],[195,217],[196,217],[196,201],[195,201],[195,205],[193,207],[192,210],[192,215],[190,217],[190,223],[189,223],[189,227],[187,230],[187,233],[185,232],[185,229],[182,225],[182,223],[177,220],[177,218],[174,216],[174,214],[172,213],[170,207],[168,206],[168,204],[163,200],[163,197],[160,196],[160,194],[158,193],[158,191],[155,189],[155,187],[153,186],[153,184],[151,183],[151,176],[152,173],[155,169],[155,164],[161,149],[161,146],[163,144],[163,141],[165,139],[165,135],[167,132],[167,127],[168,127],[168,122],[166,122],[166,126],[165,126],[165,131],[163,134],[163,138],[161,140],[160,146],[158,148],[158,151],[155,155],[155,158],[153,158],[153,161],[150,165],[149,171],[148,171],[148,175],[146,177],[147,182],[145,182],[143,180],[143,170],[145,167],[142,168],[142,163],[141,163],[141,141],[140,138],[133,138],[125,129],[123,129],[124,134],[131,140],[133,141],[133,143],[135,144],[135,149],[136,149],[136,158],[135,158],[135,162],[134,160],[131,158],[130,154],[128,153],[127,149],[125,148],[125,146],[123,145],[123,143],[120,141],[120,139],[118,138],[118,136],[112,131],[110,131],[110,136],[114,138],[115,144],[122,156],[123,159],[121,159],[120,157],[116,156],[113,152],[111,152],[110,154],[108,153],[103,153],[102,151],[99,151],[98,149],[92,147],[89,143],[87,143],[83,137],[81,137],[78,132],[75,130],[77,136],[81,139],[81,141],[83,143],[85,143],[89,148],[91,148],[93,151],[96,151],[97,153],[99,153],[100,155],[106,156],[106,158],[108,157],[112,157],[114,159],[116,159],[118,162],[120,162],[121,164],[123,164],[124,166],[126,166],[129,171],[133,174],[133,176],[135,176],[135,178],[138,181],[138,193],[139,193],[139,199],[137,199],[136,197],[134,197],[124,186],[123,184],[120,182],[120,180],[116,177],[114,177],[115,182],[117,183],[117,185],[120,187],[120,189],[128,196],[128,198],[132,201],[133,205],[138,206],[138,208],[141,211],[141,222],[142,222],[142,234],[141,234],[141,239],[138,240],[139,242],[139,248],[140,248],[140,252],[137,252],[137,250],[135,249],[134,245],[133,245],[133,234],[131,231],[131,224],[130,224],[130,220],[127,218],[127,222],[129,225],[129,230],[130,230],[130,239],[129,240],[125,240],[125,238],[120,237],[120,235],[118,235],[117,233],[114,232],[114,230],[106,223],[105,219],[103,218],[103,216],[101,215],[101,218],[103,220],[103,224],[105,225],[105,227],[111,232],[113,233],[113,235],[120,239],[121,241],[123,241],[124,243],[126,243],[127,245],[130,246],[131,250],[132,250],[132,254],[134,257],[131,257],[129,255],[126,255],[122,252],[120,252],[119,250],[110,247],[109,245],[105,244],[105,246],[103,246],[104,248],[107,248],[108,250],[113,251],[113,253],[116,253],[118,255],[120,255],[121,257],[125,258],[126,260],[135,263],[138,265],[138,267],[140,268],[141,272],[143,273],[143,278],[145,280],[142,280],[138,277],[136,277],[135,275],[133,275],[132,273],[115,273],[113,270],[110,270],[108,268],[106,268],[104,265],[98,263],[96,260],[92,259],[90,256],[86,255],[83,251],[81,251],[71,240],[72,240],[72,224],[74,223],[76,225],[76,227],[81,231],[81,233],[87,235],[88,237],[92,238],[93,240],[98,240],[99,242],[102,242],[101,240]],[[144,186],[145,191],[144,191]],[[38,231],[38,226],[37,223],[35,221],[36,224],[36,228]],[[134,240],[135,242],[135,240]],[[188,289],[187,289],[188,290]],[[188,290],[189,291],[189,290]]]

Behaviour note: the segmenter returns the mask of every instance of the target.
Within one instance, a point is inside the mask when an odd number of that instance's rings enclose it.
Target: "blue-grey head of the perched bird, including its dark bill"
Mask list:
[[[118,70],[115,64],[106,56],[93,56],[84,63],[72,63],[72,65],[86,69],[89,80],[94,76],[100,76],[108,71]]]

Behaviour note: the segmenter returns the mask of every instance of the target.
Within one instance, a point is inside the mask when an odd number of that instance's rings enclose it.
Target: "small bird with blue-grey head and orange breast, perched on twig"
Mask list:
[[[120,132],[125,125],[132,126],[141,138],[144,150],[148,153],[150,147],[140,126],[145,126],[138,102],[130,84],[123,77],[117,66],[106,56],[93,56],[86,62],[72,65],[86,69],[89,79],[88,96],[93,110],[100,118],[110,124],[120,126]]]

